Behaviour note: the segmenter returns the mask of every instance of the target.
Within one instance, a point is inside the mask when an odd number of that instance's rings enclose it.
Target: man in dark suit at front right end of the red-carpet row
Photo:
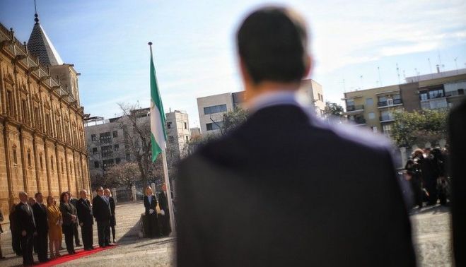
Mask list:
[[[97,232],[99,239],[99,247],[107,247],[110,245],[110,203],[103,196],[103,188],[97,188],[97,196],[92,200],[92,214],[97,222]]]

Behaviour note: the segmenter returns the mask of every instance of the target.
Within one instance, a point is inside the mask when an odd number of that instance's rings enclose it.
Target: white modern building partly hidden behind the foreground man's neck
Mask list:
[[[318,116],[322,116],[325,110],[325,102],[322,85],[308,79],[304,80],[298,93],[298,97]],[[201,133],[218,133],[223,124],[223,114],[232,111],[235,107],[241,107],[245,102],[244,91],[237,93],[224,93],[197,98],[199,123]]]

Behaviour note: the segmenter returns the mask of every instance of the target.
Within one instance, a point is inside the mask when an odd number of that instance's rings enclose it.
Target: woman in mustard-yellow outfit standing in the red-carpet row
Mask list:
[[[62,213],[57,204],[54,203],[52,196],[47,197],[47,218],[49,220],[49,249],[50,258],[56,258],[60,255],[59,249],[62,243]],[[55,254],[54,254],[55,248]]]

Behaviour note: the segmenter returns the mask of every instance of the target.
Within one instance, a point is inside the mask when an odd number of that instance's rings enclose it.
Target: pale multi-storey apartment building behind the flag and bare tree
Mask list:
[[[150,134],[149,108],[137,109],[133,113],[136,123]],[[190,140],[190,124],[186,112],[175,110],[165,114],[167,132],[167,158],[180,158],[184,155],[185,145]],[[132,121],[128,117],[88,117],[85,122],[86,140],[89,154],[89,169],[91,177],[103,174],[108,167],[124,162],[135,161],[125,140],[135,136]],[[147,136],[147,138],[150,138]]]

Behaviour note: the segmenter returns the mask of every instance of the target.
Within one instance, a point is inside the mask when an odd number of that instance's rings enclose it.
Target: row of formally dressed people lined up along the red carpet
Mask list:
[[[110,245],[110,227],[115,243],[115,201],[110,196],[109,189],[105,189],[104,193],[101,187],[98,188],[98,195],[100,197],[94,198],[91,204],[86,190],[81,190],[79,199],[71,198],[69,192],[63,192],[60,194],[59,205],[53,196],[47,196],[46,206],[41,193],[36,193],[35,198],[32,198],[25,192],[20,192],[18,194],[20,202],[11,208],[9,219],[13,251],[18,256],[23,256],[23,265],[33,265],[33,251],[37,253],[40,263],[62,256],[59,250],[62,249],[63,235],[68,254],[76,254],[74,239],[76,247],[81,246],[78,224],[81,226],[83,249],[94,249],[93,218],[98,223],[98,230],[100,230],[99,225],[106,227],[99,232],[100,247]],[[47,247],[50,251],[49,258]],[[3,256],[0,254],[0,257]]]

